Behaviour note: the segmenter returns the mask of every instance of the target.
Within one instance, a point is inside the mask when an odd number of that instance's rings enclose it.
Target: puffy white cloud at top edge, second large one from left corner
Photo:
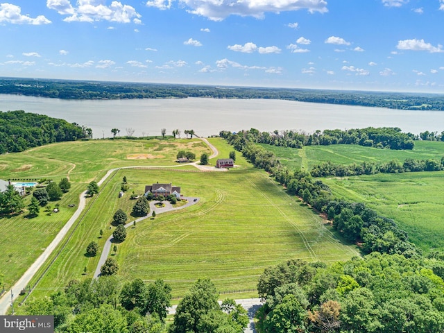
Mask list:
[[[74,8],[69,0],[47,0],[49,9],[57,10],[60,15],[71,15],[64,19],[65,22],[94,22],[109,21],[117,23],[142,24],[140,15],[135,8],[123,5],[119,1],[112,1],[110,6],[101,4],[104,1],[78,0],[78,7]]]

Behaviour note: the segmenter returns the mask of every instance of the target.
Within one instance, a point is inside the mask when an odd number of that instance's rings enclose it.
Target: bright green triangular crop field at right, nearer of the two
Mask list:
[[[444,172],[323,180],[336,196],[364,202],[394,219],[424,250],[444,248]]]

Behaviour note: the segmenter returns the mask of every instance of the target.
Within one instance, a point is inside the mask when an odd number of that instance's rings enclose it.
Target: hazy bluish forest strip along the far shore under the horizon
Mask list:
[[[37,80],[34,78],[0,78],[0,94],[22,94],[53,99],[183,99],[187,97],[283,99],[399,110],[444,110],[444,95],[441,94]]]

